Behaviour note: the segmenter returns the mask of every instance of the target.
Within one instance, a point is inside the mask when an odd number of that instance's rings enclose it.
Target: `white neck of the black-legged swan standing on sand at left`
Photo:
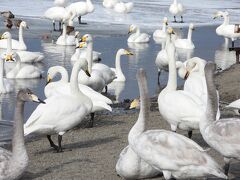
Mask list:
[[[84,96],[78,87],[78,73],[81,69],[82,69],[82,62],[76,61],[72,69],[72,74],[70,78],[70,88],[71,88],[72,94],[79,94],[81,96]]]

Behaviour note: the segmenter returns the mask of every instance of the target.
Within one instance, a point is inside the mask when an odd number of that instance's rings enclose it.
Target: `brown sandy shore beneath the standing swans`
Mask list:
[[[234,65],[216,76],[221,101],[231,102],[239,98],[239,77],[240,65]],[[222,115],[233,113],[223,109]],[[63,153],[55,153],[45,137],[32,139],[26,143],[30,163],[22,179],[121,179],[115,172],[115,164],[119,153],[127,146],[128,132],[137,117],[137,110],[114,116],[98,115],[94,128],[78,127],[64,135]],[[169,129],[169,125],[153,108],[147,128]],[[179,133],[186,135],[186,132]],[[194,132],[193,140],[204,148],[208,147],[199,131]],[[223,165],[223,158],[217,152],[211,150],[209,153]],[[231,163],[230,177],[240,178],[239,162]]]

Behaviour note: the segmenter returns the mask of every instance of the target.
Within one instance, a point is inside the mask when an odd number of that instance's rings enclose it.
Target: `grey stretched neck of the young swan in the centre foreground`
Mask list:
[[[146,74],[143,69],[137,72],[137,81],[140,92],[140,112],[138,120],[128,134],[128,141],[130,144],[134,143],[137,136],[141,135],[145,130],[145,121],[149,116],[149,99]]]

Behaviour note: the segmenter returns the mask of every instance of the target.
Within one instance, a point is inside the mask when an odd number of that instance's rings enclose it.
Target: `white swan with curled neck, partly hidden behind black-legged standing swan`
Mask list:
[[[51,80],[57,75],[57,73],[61,74],[61,79],[57,82],[51,82]],[[77,77],[73,74],[71,76]],[[44,93],[47,98],[59,94],[71,95],[70,83],[68,82],[68,73],[64,67],[54,66],[49,68],[47,79],[47,86],[44,88]],[[89,99],[91,99],[93,103],[91,111],[91,121],[89,122],[89,127],[93,127],[94,113],[103,110],[112,111],[111,106],[109,106],[109,104],[112,104],[112,101],[86,85],[78,84],[78,86],[79,89],[81,89],[82,93],[86,95]]]

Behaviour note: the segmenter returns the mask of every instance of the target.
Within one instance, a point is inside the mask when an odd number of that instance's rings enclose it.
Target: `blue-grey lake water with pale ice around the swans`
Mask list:
[[[37,64],[45,74],[49,67],[55,65],[61,65],[67,68],[70,72],[72,64],[70,57],[74,53],[74,47],[57,46],[54,41],[57,39],[59,33],[51,33],[51,23],[46,20],[39,20],[37,17],[41,17],[42,13],[51,6],[52,1],[48,0],[35,0],[28,1],[22,0],[21,4],[17,4],[17,0],[6,1],[1,0],[0,10],[12,10],[15,14],[27,19],[30,26],[29,30],[24,32],[25,42],[30,51],[40,51],[45,55],[43,63]],[[84,17],[84,21],[88,22],[86,26],[77,26],[76,28],[84,33],[91,33],[94,36],[94,50],[102,53],[102,62],[114,67],[115,54],[119,48],[130,49],[134,56],[122,57],[122,69],[126,76],[126,83],[115,84],[118,87],[117,94],[119,95],[119,101],[123,99],[133,99],[138,97],[138,86],[136,82],[136,71],[139,68],[144,68],[147,72],[149,93],[151,96],[156,95],[160,88],[163,88],[167,83],[168,73],[163,72],[160,78],[160,86],[157,84],[157,68],[155,66],[155,58],[159,52],[161,46],[153,39],[150,43],[142,45],[132,45],[127,43],[127,31],[129,23],[138,23],[144,26],[145,31],[152,33],[156,26],[159,26],[163,14],[168,12],[167,5],[170,1],[135,1],[135,9],[133,13],[126,16],[115,15],[112,12],[106,12],[101,6],[100,1],[96,4],[96,11]],[[239,17],[239,11],[236,8],[240,7],[238,1],[226,1],[207,0],[205,3],[194,2],[190,0],[182,0],[187,7],[186,24],[194,21],[197,23],[196,31],[193,34],[193,41],[196,49],[192,52],[180,52],[180,60],[184,61],[186,58],[198,56],[209,61],[215,61],[219,67],[225,69],[235,62],[235,53],[229,52],[224,46],[223,38],[218,37],[215,33],[216,26],[213,24],[212,14],[217,9],[227,9],[231,13],[231,18],[237,20]],[[202,2],[202,1],[201,1]],[[10,8],[11,7],[11,8]],[[33,7],[34,10],[32,9]],[[159,8],[159,10],[158,10]],[[109,14],[110,13],[110,14]],[[115,17],[121,17],[115,19]],[[34,17],[34,18],[33,18]],[[159,18],[160,17],[160,18]],[[114,22],[113,22],[114,21]],[[113,23],[113,24],[112,24]],[[206,23],[211,26],[204,26]],[[219,21],[218,21],[219,23]],[[106,25],[108,24],[108,25]],[[173,24],[176,26],[176,24]],[[110,29],[110,30],[109,30]],[[1,32],[5,31],[2,24],[0,27]],[[181,34],[186,37],[187,28],[179,29]],[[13,37],[17,38],[18,31],[13,29]],[[48,41],[41,40],[43,34],[50,34],[51,38]],[[44,99],[44,86],[46,79],[33,79],[33,80],[16,80],[15,89],[16,92],[28,87],[33,90],[40,98]],[[183,80],[178,81],[178,85],[183,84]],[[2,119],[12,119],[15,107],[16,92],[2,95],[1,111]],[[110,90],[110,93],[114,94],[114,91]],[[37,104],[27,103],[25,106],[25,119],[27,119],[32,111],[36,108]],[[1,132],[0,132],[1,134]]]

